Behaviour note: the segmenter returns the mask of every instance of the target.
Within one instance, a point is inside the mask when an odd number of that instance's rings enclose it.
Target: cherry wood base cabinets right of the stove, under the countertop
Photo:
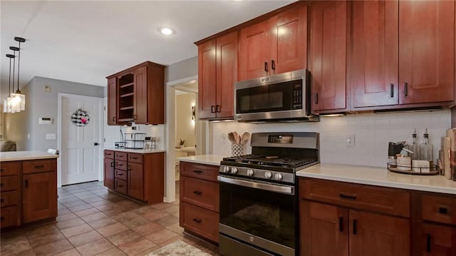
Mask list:
[[[303,256],[456,255],[456,195],[299,178]]]

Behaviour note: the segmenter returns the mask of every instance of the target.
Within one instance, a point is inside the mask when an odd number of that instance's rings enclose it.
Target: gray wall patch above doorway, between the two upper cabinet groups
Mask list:
[[[165,68],[165,82],[198,75],[198,56],[174,63]]]

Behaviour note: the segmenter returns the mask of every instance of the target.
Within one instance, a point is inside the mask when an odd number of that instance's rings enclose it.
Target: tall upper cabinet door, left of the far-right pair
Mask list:
[[[399,103],[398,1],[353,1],[353,107]]]

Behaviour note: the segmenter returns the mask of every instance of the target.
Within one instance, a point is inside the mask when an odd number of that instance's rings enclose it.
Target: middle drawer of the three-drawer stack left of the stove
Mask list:
[[[180,186],[181,200],[219,212],[219,183],[183,176]]]

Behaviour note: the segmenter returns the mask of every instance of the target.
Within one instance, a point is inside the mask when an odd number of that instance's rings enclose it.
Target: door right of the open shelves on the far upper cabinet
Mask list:
[[[137,68],[134,72],[135,108],[133,121],[135,124],[147,124],[147,68]]]

